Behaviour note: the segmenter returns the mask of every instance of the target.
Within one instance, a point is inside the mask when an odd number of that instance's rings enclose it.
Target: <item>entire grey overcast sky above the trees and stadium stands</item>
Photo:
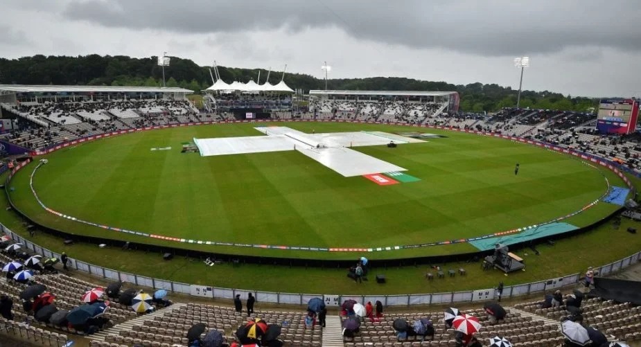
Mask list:
[[[167,51],[331,78],[641,97],[641,0],[2,0],[0,56]],[[227,81],[231,82],[231,81]],[[297,87],[297,86],[291,86]],[[319,86],[321,87],[321,86]]]

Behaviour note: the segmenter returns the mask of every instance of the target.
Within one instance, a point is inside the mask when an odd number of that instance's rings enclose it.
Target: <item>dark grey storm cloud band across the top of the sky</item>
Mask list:
[[[638,0],[71,0],[63,15],[186,34],[337,26],[357,39],[489,56],[572,46],[641,51]]]

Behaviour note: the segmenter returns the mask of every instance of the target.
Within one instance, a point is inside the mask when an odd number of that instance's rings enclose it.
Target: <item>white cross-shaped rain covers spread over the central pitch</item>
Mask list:
[[[193,141],[203,157],[296,150],[344,177],[407,170],[393,163],[351,150],[350,147],[387,145],[390,142],[398,144],[425,142],[386,132],[306,134],[289,127],[256,127],[255,129],[267,136],[220,137],[193,139]]]

